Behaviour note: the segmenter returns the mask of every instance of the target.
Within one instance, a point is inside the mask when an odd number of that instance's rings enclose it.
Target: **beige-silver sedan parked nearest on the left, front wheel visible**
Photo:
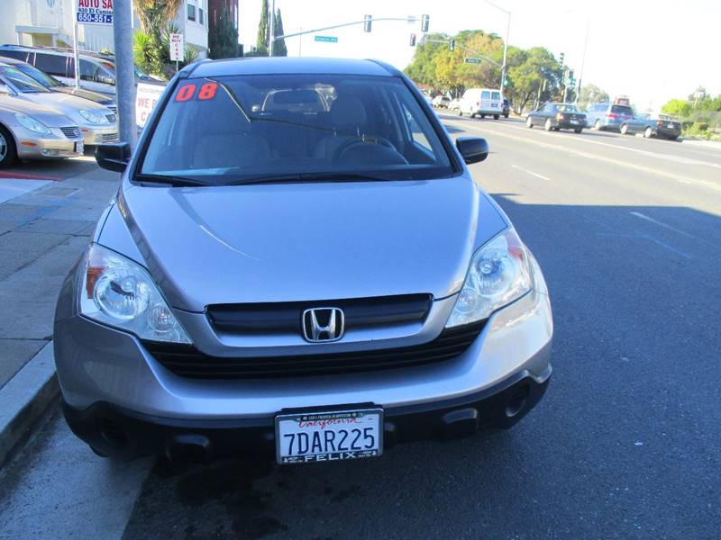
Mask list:
[[[0,81],[0,168],[17,159],[81,156],[80,128],[55,109],[17,99]]]

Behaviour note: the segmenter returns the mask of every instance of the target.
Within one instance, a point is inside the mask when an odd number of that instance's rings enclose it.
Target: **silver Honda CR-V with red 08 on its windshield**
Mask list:
[[[508,428],[551,375],[543,275],[415,85],[370,60],[168,85],[68,275],[55,359],[99,455],[278,463]],[[465,163],[464,163],[465,162]]]

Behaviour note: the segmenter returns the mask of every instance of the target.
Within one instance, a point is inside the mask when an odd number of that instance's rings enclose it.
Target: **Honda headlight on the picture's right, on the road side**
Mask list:
[[[514,229],[506,229],[479,248],[446,328],[488,319],[533,287],[531,254]]]

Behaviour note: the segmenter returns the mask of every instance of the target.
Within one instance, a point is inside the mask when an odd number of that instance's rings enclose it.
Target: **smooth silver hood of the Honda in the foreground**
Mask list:
[[[130,186],[118,207],[132,251],[137,247],[169,302],[203,311],[214,303],[446,297],[461,288],[468,270],[480,197],[468,176],[457,176]],[[499,220],[497,213],[492,219]],[[99,241],[123,251],[113,236],[104,230]]]

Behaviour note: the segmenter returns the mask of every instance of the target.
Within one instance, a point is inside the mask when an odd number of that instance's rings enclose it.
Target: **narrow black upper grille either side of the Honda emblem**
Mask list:
[[[303,335],[303,311],[310,308],[340,308],[346,329],[423,322],[431,310],[430,294],[399,294],[374,298],[319,302],[273,302],[214,304],[206,313],[213,328],[233,334]]]

